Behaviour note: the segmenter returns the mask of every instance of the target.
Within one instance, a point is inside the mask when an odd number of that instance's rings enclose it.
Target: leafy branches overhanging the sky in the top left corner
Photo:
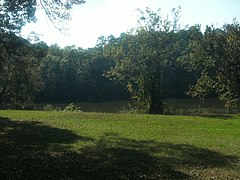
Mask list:
[[[64,28],[70,10],[84,0],[2,0],[0,1],[0,31],[19,32],[28,22],[36,21],[35,12],[42,8],[56,28]]]

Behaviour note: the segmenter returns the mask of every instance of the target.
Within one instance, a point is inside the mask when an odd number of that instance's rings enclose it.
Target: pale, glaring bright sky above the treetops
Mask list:
[[[48,45],[90,48],[96,45],[100,36],[112,34],[118,37],[136,27],[138,8],[149,7],[154,11],[160,8],[162,16],[166,17],[178,6],[181,6],[180,23],[183,26],[201,24],[204,28],[213,24],[222,27],[232,23],[234,18],[240,22],[240,0],[86,0],[85,4],[72,10],[68,35],[54,28],[41,10],[37,12],[37,22],[27,24],[22,34],[27,37],[34,31]]]

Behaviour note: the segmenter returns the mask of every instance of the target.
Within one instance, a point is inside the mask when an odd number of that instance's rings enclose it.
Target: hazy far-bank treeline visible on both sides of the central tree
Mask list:
[[[43,89],[35,101],[66,103],[129,99],[130,94],[122,83],[106,77],[115,63],[113,58],[105,55],[104,45],[87,50],[52,45],[41,63]],[[187,97],[188,86],[195,83],[196,75],[182,67],[167,66],[165,72],[164,97]]]

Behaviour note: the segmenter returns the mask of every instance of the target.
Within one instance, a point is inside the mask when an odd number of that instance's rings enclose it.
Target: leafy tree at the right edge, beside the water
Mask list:
[[[227,109],[240,106],[240,26],[234,21],[221,29],[207,26],[203,36],[192,36],[189,63],[200,72],[190,95],[202,101],[214,92]]]

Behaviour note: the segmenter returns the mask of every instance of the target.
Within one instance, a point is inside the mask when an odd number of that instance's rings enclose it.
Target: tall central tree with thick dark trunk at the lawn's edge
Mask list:
[[[160,11],[140,11],[136,32],[122,34],[118,42],[106,46],[116,61],[108,76],[123,82],[132,99],[152,114],[163,113],[164,70],[176,58],[179,10],[173,9],[172,21],[163,19]]]

